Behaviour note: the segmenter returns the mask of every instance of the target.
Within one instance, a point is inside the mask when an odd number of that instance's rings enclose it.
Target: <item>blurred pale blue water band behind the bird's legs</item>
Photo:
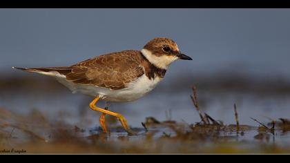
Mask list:
[[[39,88],[41,89],[41,88]],[[158,93],[157,90],[142,99],[128,103],[112,103],[110,111],[122,113],[131,126],[142,127],[141,122],[145,117],[155,117],[166,120],[166,114],[171,111],[171,119],[177,122],[189,124],[199,122],[200,117],[191,102],[191,91],[182,91],[168,95]],[[65,113],[66,121],[79,123],[86,117],[86,121],[92,121],[93,126],[98,125],[100,113],[90,110],[88,104],[92,97],[72,94],[68,90],[57,93],[25,93],[25,92],[1,92],[0,107],[16,113],[29,113],[33,109],[45,113],[51,118],[61,118],[58,115]],[[225,124],[235,123],[233,104],[238,106],[240,123],[256,125],[250,117],[269,122],[280,117],[287,118],[290,115],[290,95],[260,96],[251,93],[209,93],[199,91],[200,105],[211,117],[220,119]],[[104,107],[104,102],[98,106]],[[56,116],[57,115],[57,116]],[[170,118],[170,117],[167,117]],[[93,127],[91,126],[91,127]]]

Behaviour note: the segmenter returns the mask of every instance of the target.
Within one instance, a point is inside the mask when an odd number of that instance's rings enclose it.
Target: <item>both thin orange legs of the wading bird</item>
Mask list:
[[[125,130],[129,133],[129,134],[133,134],[133,132],[131,131],[131,129],[128,126],[127,120],[125,119],[125,117],[119,113],[114,113],[112,111],[107,111],[104,108],[99,108],[97,106],[95,106],[95,104],[99,101],[99,96],[97,96],[93,102],[90,102],[90,108],[92,108],[94,111],[99,111],[101,113],[103,113],[100,117],[100,122],[101,122],[101,128],[103,128],[104,133],[106,133],[106,126],[103,122],[105,122],[105,115],[113,115],[114,117],[117,117],[117,119],[119,119],[119,121],[121,122],[122,126],[125,128]]]

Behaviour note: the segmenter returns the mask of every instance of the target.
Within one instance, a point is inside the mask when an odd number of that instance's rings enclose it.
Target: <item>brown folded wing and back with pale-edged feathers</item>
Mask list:
[[[66,79],[76,84],[92,84],[102,88],[121,89],[144,74],[139,51],[126,50],[101,55],[72,65]]]

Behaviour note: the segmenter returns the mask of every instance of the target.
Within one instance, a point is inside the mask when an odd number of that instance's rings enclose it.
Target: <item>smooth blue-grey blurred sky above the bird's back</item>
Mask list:
[[[242,71],[290,79],[289,29],[290,9],[0,9],[0,75],[169,37],[193,58],[173,63],[169,78]]]

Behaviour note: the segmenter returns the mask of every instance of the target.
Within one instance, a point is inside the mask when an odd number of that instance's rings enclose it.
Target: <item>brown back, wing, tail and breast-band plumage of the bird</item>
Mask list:
[[[157,68],[138,50],[124,50],[81,61],[67,67],[18,68],[28,72],[57,71],[75,84],[90,84],[113,90],[126,88],[131,81],[145,75],[164,77],[166,70]]]

